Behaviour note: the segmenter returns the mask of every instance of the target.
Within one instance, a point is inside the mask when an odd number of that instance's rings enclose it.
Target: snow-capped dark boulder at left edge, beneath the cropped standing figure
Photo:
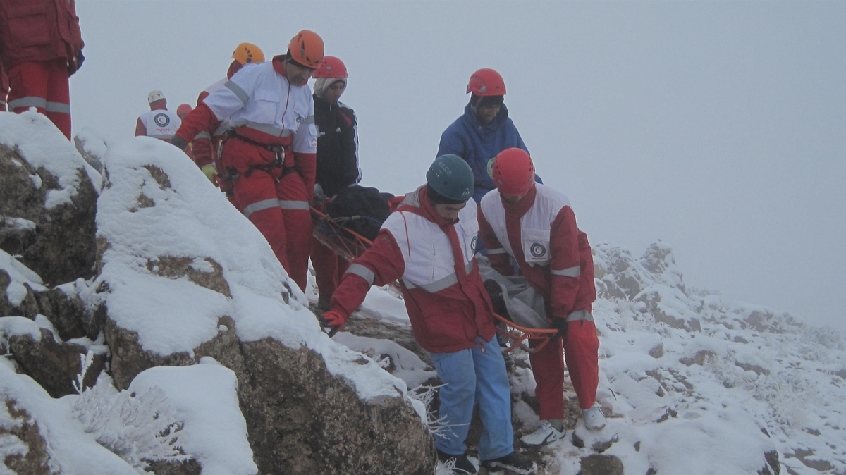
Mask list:
[[[99,183],[47,117],[0,112],[0,248],[47,284],[93,275]]]

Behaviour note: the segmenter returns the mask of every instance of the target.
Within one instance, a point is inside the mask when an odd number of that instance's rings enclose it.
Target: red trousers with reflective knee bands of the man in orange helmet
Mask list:
[[[264,235],[288,276],[305,291],[311,246],[311,194],[305,192],[305,183],[297,172],[281,177],[279,169],[248,172],[244,164],[255,164],[266,151],[238,139],[227,140],[223,163],[239,171],[239,177],[232,182],[230,200]]]

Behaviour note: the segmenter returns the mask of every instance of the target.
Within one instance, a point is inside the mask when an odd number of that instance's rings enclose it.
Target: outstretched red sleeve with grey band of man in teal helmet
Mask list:
[[[360,266],[360,267],[359,267]],[[361,254],[343,275],[341,284],[332,293],[332,310],[338,310],[349,317],[365,301],[371,285],[384,286],[405,273],[405,259],[397,241],[387,230],[382,230],[371,248]],[[372,281],[365,276],[372,277]]]

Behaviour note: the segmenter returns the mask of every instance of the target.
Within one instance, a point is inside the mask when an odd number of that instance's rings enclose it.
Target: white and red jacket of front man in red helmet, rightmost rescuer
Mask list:
[[[593,254],[566,196],[536,183],[511,205],[494,189],[481,199],[480,210],[480,237],[494,269],[511,275],[514,257],[520,273],[546,300],[548,315],[592,320]]]

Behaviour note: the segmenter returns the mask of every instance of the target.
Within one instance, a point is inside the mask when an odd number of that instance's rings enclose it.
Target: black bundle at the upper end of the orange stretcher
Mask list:
[[[372,241],[391,214],[388,200],[392,198],[393,194],[380,193],[376,188],[354,185],[343,188],[326,204],[326,214],[340,227]]]

